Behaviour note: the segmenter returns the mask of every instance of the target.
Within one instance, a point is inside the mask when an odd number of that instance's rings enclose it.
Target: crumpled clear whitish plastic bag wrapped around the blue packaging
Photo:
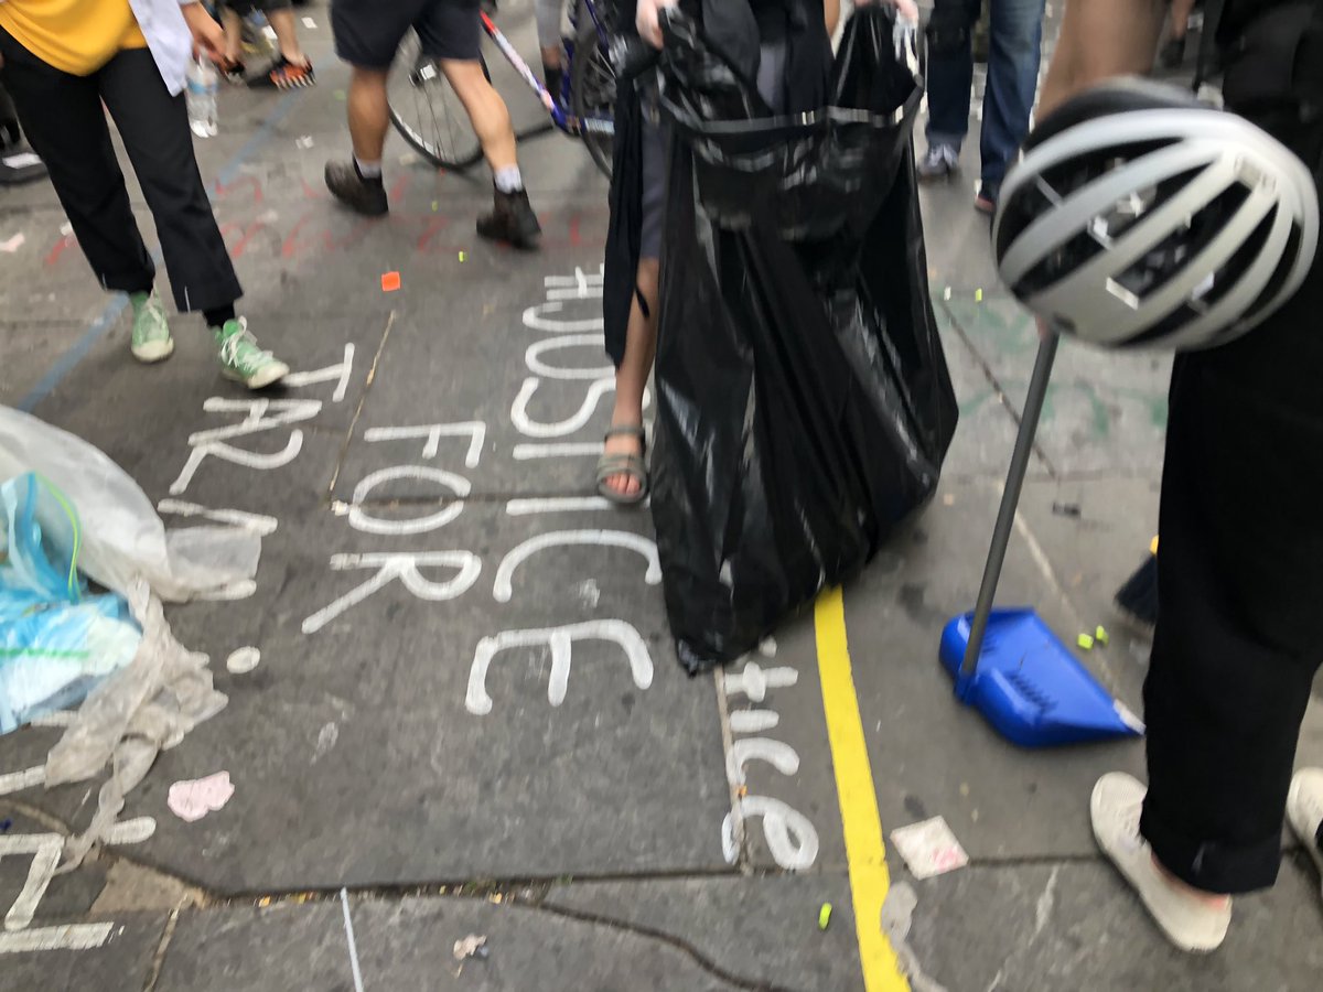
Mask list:
[[[226,704],[212,685],[206,655],[188,651],[171,632],[161,600],[183,602],[233,587],[257,574],[262,540],[239,528],[189,528],[167,534],[151,500],[119,466],[74,435],[0,406],[0,479],[36,472],[62,491],[81,517],[77,566],[127,600],[142,628],[130,664],[97,685],[46,758],[46,784],[101,774],[91,825],[65,845],[61,870],[75,868],[105,836],[124,796],[161,749]],[[37,508],[49,533],[61,526]]]

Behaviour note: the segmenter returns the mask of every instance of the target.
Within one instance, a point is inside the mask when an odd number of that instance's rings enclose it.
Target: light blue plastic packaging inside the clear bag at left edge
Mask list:
[[[81,702],[132,661],[142,634],[118,595],[89,595],[78,513],[49,481],[0,485],[0,734]]]

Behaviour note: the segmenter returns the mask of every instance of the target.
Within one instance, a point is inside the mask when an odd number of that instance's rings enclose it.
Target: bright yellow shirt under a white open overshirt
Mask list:
[[[3,0],[0,28],[73,75],[91,75],[116,52],[147,46],[128,0]]]

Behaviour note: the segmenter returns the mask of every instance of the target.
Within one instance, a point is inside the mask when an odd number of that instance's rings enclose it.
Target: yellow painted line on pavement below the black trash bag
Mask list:
[[[814,610],[818,630],[818,673],[827,714],[831,763],[836,770],[836,796],[845,832],[845,861],[855,903],[859,959],[868,992],[901,992],[909,981],[901,973],[896,951],[882,932],[882,899],[890,885],[882,820],[877,813],[873,771],[868,763],[864,723],[859,716],[855,676],[845,639],[845,600],[839,589],[818,599]]]

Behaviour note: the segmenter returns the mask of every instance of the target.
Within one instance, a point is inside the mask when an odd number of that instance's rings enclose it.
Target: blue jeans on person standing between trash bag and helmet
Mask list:
[[[979,0],[938,0],[963,5],[970,30],[962,44],[929,53],[927,143],[959,149],[970,130],[974,83],[972,26]],[[987,90],[983,95],[983,181],[999,185],[1029,134],[1029,114],[1039,86],[1045,0],[991,0],[992,30]]]

